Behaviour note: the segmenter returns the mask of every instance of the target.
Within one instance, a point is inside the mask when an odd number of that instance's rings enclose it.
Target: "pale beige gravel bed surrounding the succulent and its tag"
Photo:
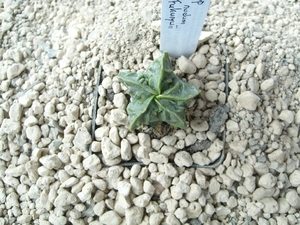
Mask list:
[[[300,5],[212,0],[185,130],[128,129],[161,2],[0,2],[0,224],[300,224]],[[96,100],[96,101],[95,101]]]

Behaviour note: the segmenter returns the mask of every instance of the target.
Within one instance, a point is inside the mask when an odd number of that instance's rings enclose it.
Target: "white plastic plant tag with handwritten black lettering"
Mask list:
[[[162,0],[160,50],[178,58],[196,51],[210,0]]]

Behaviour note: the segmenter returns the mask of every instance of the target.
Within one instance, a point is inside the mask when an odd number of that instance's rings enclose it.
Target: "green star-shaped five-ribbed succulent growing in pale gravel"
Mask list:
[[[131,102],[127,106],[130,129],[166,122],[186,128],[186,108],[200,91],[177,77],[167,52],[153,61],[145,72],[121,71],[118,79],[127,87]]]

